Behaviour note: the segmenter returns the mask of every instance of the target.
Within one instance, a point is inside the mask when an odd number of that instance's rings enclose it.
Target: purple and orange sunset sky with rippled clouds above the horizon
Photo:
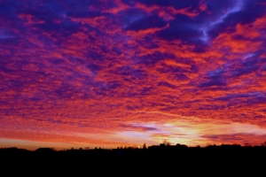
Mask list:
[[[0,0],[0,147],[266,141],[266,0]]]

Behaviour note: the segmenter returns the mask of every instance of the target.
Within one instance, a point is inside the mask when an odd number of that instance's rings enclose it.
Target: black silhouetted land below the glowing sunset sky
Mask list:
[[[0,150],[0,159],[0,171],[7,174],[3,176],[266,175],[266,147],[262,146],[66,151],[9,148]]]

